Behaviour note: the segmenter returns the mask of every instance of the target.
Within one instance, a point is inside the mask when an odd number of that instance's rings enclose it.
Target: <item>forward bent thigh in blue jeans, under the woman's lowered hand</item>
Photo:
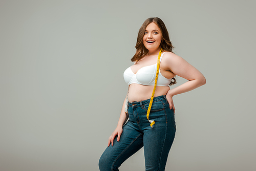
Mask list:
[[[113,146],[106,147],[100,157],[100,170],[118,170],[118,167],[143,146],[143,134],[128,125],[123,126],[120,141],[114,139]]]

